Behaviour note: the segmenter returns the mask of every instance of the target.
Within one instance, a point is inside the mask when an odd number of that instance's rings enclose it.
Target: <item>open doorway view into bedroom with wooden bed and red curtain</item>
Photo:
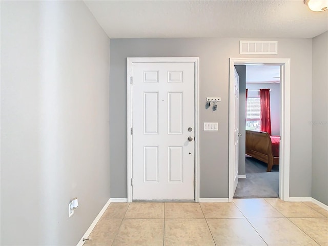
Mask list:
[[[279,198],[280,66],[252,64],[235,68],[239,75],[241,136],[234,198]]]

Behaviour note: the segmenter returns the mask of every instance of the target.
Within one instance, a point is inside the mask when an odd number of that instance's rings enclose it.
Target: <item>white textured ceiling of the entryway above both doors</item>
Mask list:
[[[312,38],[328,11],[303,0],[84,1],[110,38]]]

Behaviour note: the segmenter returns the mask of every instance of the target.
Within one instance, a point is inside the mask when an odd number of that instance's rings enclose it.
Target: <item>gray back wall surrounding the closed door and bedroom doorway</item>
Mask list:
[[[240,55],[240,38],[111,39],[111,197],[127,197],[127,57],[200,57],[200,103],[219,96],[218,110],[200,104],[200,126],[219,122],[218,132],[200,131],[200,197],[228,197],[229,57]],[[311,196],[312,39],[277,39],[278,55],[291,58],[290,195]],[[302,133],[302,134],[300,134]]]

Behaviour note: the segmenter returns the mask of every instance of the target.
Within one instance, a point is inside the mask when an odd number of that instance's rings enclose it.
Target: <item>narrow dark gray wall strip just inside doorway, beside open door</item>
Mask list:
[[[246,66],[236,65],[235,66],[237,73],[239,75],[239,160],[238,160],[238,174],[245,175],[245,165],[246,165]]]

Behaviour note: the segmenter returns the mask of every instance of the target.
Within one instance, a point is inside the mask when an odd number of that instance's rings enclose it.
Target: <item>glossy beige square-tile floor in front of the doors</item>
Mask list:
[[[328,246],[328,213],[275,198],[111,203],[84,245]]]

